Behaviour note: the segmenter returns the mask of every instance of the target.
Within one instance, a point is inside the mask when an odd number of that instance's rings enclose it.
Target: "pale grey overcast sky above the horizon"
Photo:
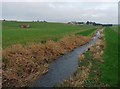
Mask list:
[[[117,0],[116,2],[108,2],[108,0],[106,2],[6,1],[2,2],[2,19],[47,20],[50,22],[89,20],[116,24],[118,23],[118,2]]]

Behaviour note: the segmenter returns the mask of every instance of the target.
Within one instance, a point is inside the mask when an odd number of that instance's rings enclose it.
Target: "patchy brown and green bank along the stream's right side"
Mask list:
[[[100,66],[104,63],[103,53],[105,42],[101,30],[100,39],[95,44],[90,46],[88,50],[79,55],[78,67],[75,73],[68,79],[64,80],[57,87],[108,87],[108,84],[103,83],[100,78],[102,70]]]

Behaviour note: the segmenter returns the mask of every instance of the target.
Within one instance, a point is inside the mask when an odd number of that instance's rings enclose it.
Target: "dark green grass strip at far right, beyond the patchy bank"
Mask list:
[[[105,28],[106,49],[101,65],[101,81],[112,87],[118,86],[118,34],[111,28]]]

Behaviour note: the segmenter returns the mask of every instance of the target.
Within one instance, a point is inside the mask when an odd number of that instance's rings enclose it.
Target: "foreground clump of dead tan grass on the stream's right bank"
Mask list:
[[[91,63],[89,63],[87,66],[79,67],[79,70],[81,70],[81,72],[76,73],[76,75],[73,77],[70,77],[69,80],[65,80],[63,84],[61,84],[61,86],[62,87],[82,87],[82,84],[88,78],[91,67],[92,67]]]

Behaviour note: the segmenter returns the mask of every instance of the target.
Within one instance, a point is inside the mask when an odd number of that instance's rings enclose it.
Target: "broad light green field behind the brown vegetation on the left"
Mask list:
[[[19,25],[21,24],[29,24],[30,28],[20,28]],[[3,48],[6,48],[13,44],[29,44],[44,40],[57,41],[66,35],[80,33],[81,31],[91,30],[90,32],[92,32],[96,27],[65,23],[3,21],[2,28],[2,45]],[[87,35],[89,35],[88,32]]]

